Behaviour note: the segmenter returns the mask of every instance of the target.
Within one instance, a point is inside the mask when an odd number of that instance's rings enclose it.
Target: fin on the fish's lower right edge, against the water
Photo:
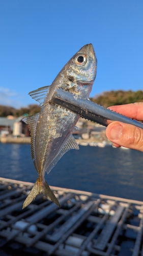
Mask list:
[[[58,161],[61,159],[61,157],[69,150],[79,150],[79,146],[76,143],[72,134],[66,141],[66,143],[65,143],[64,147],[62,148],[62,150],[60,151],[60,153],[58,155],[56,155],[55,158],[52,160],[52,162],[49,164],[48,168],[46,169],[47,174],[49,174],[50,170],[55,166],[55,164],[58,163]]]

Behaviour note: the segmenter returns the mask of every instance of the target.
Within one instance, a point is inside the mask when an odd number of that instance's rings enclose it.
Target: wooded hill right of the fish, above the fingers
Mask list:
[[[109,91],[90,98],[102,106],[123,105],[143,101],[143,91]]]

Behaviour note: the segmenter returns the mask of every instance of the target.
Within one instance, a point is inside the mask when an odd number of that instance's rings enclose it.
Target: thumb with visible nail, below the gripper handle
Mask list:
[[[116,146],[143,151],[143,129],[134,125],[112,122],[106,128],[106,136]]]

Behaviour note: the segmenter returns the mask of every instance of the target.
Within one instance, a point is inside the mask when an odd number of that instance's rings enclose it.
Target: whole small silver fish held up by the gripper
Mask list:
[[[96,69],[94,48],[92,44],[85,45],[67,62],[51,86],[29,93],[41,105],[40,113],[23,119],[30,128],[32,159],[38,179],[25,199],[23,208],[40,193],[60,206],[44,176],[45,172],[49,173],[67,151],[79,149],[71,134],[79,115],[50,103],[50,100],[57,88],[74,93],[77,98],[87,99],[96,77]]]

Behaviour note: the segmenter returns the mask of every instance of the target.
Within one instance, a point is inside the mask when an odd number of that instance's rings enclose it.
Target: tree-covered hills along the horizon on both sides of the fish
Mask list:
[[[96,95],[93,98],[90,98],[90,100],[105,107],[111,105],[122,105],[133,102],[140,102],[143,101],[143,91],[107,91],[100,95]],[[31,116],[38,112],[40,112],[40,106],[37,104],[31,104],[25,108],[20,109],[15,109],[11,106],[0,105],[0,117],[7,117],[8,115],[19,117],[23,114],[28,114]]]

